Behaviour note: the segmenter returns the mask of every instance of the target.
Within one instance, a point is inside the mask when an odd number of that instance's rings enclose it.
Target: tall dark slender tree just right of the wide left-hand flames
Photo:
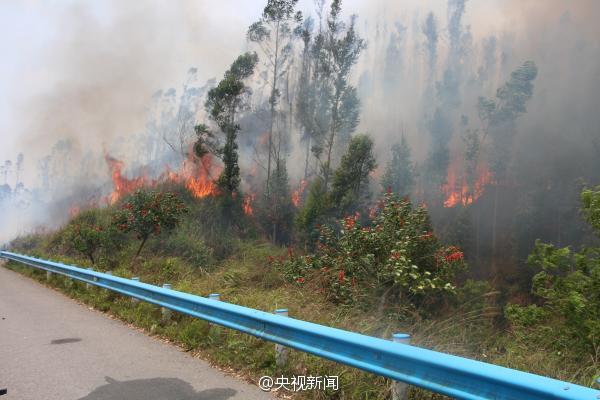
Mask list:
[[[238,192],[240,184],[240,167],[238,165],[237,132],[240,126],[236,123],[236,114],[245,106],[245,97],[250,89],[244,80],[252,76],[258,62],[256,53],[245,53],[239,56],[219,84],[208,92],[205,108],[210,118],[217,124],[225,143],[220,146],[205,125],[196,126],[198,140],[194,151],[202,157],[207,151],[212,151],[223,160],[224,168],[217,180],[221,191],[228,197]]]

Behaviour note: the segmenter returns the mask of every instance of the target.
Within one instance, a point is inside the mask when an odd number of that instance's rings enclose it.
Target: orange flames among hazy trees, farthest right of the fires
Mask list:
[[[450,167],[448,169],[448,181],[442,186],[442,191],[446,196],[444,207],[467,206],[481,197],[485,186],[492,181],[492,173],[485,166],[480,166],[477,172],[477,179],[473,183],[473,187],[470,187],[466,177],[459,176],[456,173],[456,168]]]

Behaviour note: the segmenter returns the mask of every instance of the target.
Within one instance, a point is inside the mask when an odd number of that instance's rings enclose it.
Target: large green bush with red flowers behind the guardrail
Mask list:
[[[388,193],[374,211],[371,226],[358,215],[341,221],[339,237],[323,226],[315,254],[277,262],[288,280],[316,280],[336,303],[368,299],[375,293],[415,305],[431,304],[455,289],[463,254],[443,246],[431,232],[427,211]]]

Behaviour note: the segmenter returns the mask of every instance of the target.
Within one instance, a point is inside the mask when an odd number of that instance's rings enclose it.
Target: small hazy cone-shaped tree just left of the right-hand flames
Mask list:
[[[392,146],[392,159],[388,162],[381,185],[400,196],[408,196],[415,185],[415,167],[410,156],[410,146],[402,135],[400,143]]]

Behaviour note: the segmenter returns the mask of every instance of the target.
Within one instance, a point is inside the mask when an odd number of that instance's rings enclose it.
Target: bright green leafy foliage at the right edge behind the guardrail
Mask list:
[[[594,226],[600,212],[597,192],[582,193],[584,215]],[[532,293],[539,305],[509,305],[505,314],[517,335],[530,340],[551,334],[550,348],[576,349],[597,357],[600,348],[600,248],[557,248],[536,241],[528,263],[539,272]]]

